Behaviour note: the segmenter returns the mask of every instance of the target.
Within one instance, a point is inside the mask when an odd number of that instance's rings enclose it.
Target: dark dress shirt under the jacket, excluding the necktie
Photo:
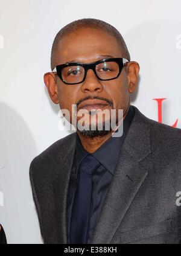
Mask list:
[[[106,197],[112,176],[115,171],[116,163],[118,162],[119,153],[121,151],[122,144],[124,142],[125,136],[129,130],[130,124],[132,123],[133,117],[135,115],[135,109],[130,105],[129,111],[125,116],[123,121],[123,134],[122,136],[114,137],[111,136],[104,142],[101,147],[97,149],[92,155],[101,163],[100,167],[92,174],[92,212],[90,214],[90,228],[88,232],[87,243],[92,240],[92,235],[95,226],[98,222],[98,218],[103,207],[104,199]],[[74,163],[71,170],[71,177],[69,181],[68,190],[68,202],[67,202],[67,228],[68,228],[68,243],[70,234],[70,222],[71,222],[71,212],[72,204],[74,201],[75,190],[78,185],[79,179],[79,165],[81,160],[85,155],[89,154],[84,150],[81,145],[80,138],[77,134],[76,137],[76,148],[74,155]]]

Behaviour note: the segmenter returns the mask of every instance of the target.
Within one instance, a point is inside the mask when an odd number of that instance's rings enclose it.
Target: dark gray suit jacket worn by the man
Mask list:
[[[181,191],[181,129],[135,110],[91,243],[180,243],[176,193]],[[67,243],[66,200],[74,152],[72,133],[30,165],[44,243]]]

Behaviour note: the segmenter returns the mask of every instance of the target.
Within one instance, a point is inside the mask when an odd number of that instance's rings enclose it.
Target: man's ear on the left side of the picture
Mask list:
[[[43,79],[44,79],[44,83],[46,85],[46,88],[48,89],[49,97],[51,98],[51,100],[54,103],[58,104],[59,103],[59,97],[58,97],[58,88],[57,88],[56,76],[53,73],[48,72],[48,73],[44,74]]]

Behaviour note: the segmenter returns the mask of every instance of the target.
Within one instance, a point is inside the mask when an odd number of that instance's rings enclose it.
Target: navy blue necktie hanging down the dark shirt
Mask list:
[[[92,174],[100,162],[86,155],[80,164],[80,178],[72,205],[70,243],[87,243],[90,224]]]

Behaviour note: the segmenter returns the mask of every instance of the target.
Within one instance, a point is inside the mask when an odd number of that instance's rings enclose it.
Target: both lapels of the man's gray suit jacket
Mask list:
[[[92,243],[111,243],[133,198],[151,168],[149,119],[135,108],[135,116],[122,146],[115,175],[107,192]],[[57,154],[54,165],[54,199],[57,243],[67,243],[66,202],[68,185],[75,154],[76,133],[66,142],[67,153]]]

